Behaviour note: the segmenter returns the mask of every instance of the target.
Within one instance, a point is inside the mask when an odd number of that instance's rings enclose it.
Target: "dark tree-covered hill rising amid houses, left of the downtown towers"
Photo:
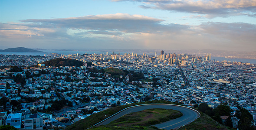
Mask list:
[[[56,58],[56,59],[52,59],[46,62],[43,62],[43,64],[45,64],[46,66],[55,66],[55,67],[59,67],[59,66],[82,66],[83,63],[78,61],[78,60],[74,60],[74,59],[63,59],[63,58]]]

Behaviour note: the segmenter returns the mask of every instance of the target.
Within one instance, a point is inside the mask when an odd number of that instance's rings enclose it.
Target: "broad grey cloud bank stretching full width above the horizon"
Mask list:
[[[256,26],[248,23],[163,24],[161,19],[126,13],[21,22],[0,23],[2,47],[14,46],[19,41],[14,47],[26,44],[30,48],[48,46],[46,49],[210,48],[240,51],[256,48]]]

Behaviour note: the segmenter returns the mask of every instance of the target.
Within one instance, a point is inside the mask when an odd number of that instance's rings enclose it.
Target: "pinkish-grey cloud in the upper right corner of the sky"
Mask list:
[[[141,2],[141,8],[202,14],[204,17],[256,15],[256,0],[113,0]]]

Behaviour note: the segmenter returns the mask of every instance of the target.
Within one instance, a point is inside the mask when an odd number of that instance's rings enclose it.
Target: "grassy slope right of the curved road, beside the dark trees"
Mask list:
[[[230,127],[221,125],[207,114],[200,112],[201,116],[190,124],[181,127],[179,130],[233,130]]]

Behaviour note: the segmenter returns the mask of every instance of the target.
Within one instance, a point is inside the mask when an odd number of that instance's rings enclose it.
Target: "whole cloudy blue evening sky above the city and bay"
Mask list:
[[[256,0],[0,0],[0,49],[256,51]]]

